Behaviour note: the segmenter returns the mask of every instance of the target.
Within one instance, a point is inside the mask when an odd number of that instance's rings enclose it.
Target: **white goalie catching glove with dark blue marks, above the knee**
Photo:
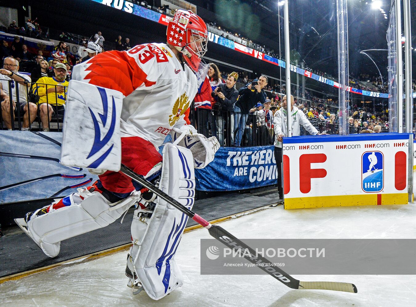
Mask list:
[[[198,133],[192,125],[183,125],[180,128],[173,127],[171,135],[174,144],[191,150],[195,168],[206,167],[214,160],[215,153],[220,148],[215,136],[207,138]]]

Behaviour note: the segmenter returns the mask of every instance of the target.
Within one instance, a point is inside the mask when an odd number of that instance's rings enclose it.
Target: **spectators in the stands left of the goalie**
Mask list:
[[[19,109],[19,115],[24,117],[22,128],[28,129],[28,117],[30,118],[30,123],[37,117],[42,126],[40,129],[49,131],[49,123],[52,117],[56,115],[57,121],[59,119],[62,120],[66,88],[68,81],[71,79],[73,66],[87,61],[99,52],[104,51],[105,39],[103,34],[101,31],[97,31],[95,35],[92,35],[92,40],[89,41],[85,37],[79,38],[72,34],[61,32],[59,43],[54,46],[52,51],[46,52],[45,49],[32,48],[28,50],[27,45],[24,43],[24,38],[22,39],[19,36],[47,39],[45,36],[40,37],[42,30],[36,20],[33,23],[27,20],[23,27],[18,27],[17,23],[13,21],[7,32],[16,34],[16,36],[13,41],[2,40],[0,42],[0,61],[5,61],[5,69],[2,70],[3,73],[1,75],[3,76],[1,117],[7,129],[11,129],[10,102],[8,101],[10,88],[8,83],[10,81],[13,82],[13,80],[8,76],[11,72],[14,72],[15,76],[25,76],[25,82],[19,88],[19,91],[22,92],[19,95],[21,105],[18,108],[15,106],[17,99],[15,95],[16,90],[14,87],[12,88],[14,114],[17,116],[16,110]],[[80,44],[77,51],[75,53],[71,52],[69,44],[77,43]],[[119,51],[129,50],[131,49],[130,39],[119,35],[115,39],[115,44],[111,44],[111,46],[114,46],[114,49]],[[11,69],[11,67],[7,66],[9,61],[16,62],[17,65]],[[18,72],[19,75],[17,74]],[[30,101],[30,116],[27,116],[28,101]],[[7,109],[7,106],[9,106],[9,109]]]

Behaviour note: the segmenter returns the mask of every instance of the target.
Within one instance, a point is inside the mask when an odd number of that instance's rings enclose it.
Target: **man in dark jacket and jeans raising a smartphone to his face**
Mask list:
[[[258,80],[254,80],[238,90],[240,97],[234,105],[234,146],[236,147],[241,146],[241,139],[250,109],[258,102],[264,104],[266,101],[267,96],[263,88],[267,85],[267,81],[266,76],[260,76]]]

